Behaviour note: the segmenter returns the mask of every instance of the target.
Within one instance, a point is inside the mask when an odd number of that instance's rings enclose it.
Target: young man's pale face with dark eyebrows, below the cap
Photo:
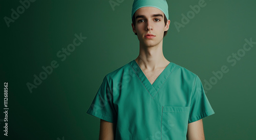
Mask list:
[[[145,46],[155,46],[163,40],[164,31],[169,29],[169,20],[164,24],[164,13],[155,7],[142,7],[135,12],[135,26],[140,43]],[[146,36],[153,34],[154,36]]]

